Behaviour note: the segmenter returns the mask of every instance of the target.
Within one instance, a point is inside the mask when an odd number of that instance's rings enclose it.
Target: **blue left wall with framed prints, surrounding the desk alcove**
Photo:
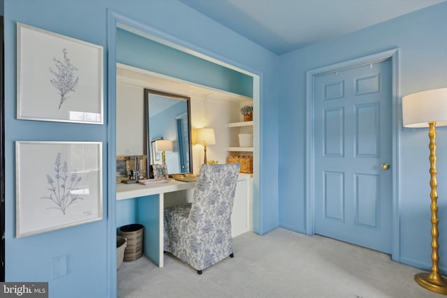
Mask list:
[[[161,38],[261,76],[261,187],[256,189],[260,200],[255,206],[259,210],[255,225],[260,233],[278,225],[277,56],[177,1],[6,0],[6,281],[49,281],[50,297],[116,295],[114,229],[117,221],[125,219],[115,216],[119,204],[111,179],[115,172],[115,77],[108,78],[115,75],[116,61],[114,45],[108,47],[108,41],[115,38],[108,36],[112,30],[108,12],[142,24]],[[16,22],[104,47],[104,125],[15,119]],[[103,142],[103,221],[15,238],[15,140]],[[51,261],[59,256],[66,256],[67,274],[52,279]]]

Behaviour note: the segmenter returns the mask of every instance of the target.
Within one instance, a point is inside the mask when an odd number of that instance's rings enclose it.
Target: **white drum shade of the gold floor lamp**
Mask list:
[[[421,91],[402,98],[404,127],[447,126],[447,88]]]

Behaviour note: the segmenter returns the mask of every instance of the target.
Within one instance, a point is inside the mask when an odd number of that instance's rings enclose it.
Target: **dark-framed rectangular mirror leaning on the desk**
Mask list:
[[[157,140],[172,142],[172,151],[165,152],[168,174],[192,172],[190,98],[145,89],[144,103],[147,177],[149,165],[163,164],[163,152],[156,151]]]

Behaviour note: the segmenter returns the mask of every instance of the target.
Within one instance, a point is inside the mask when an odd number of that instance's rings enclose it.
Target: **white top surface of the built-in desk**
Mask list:
[[[169,179],[168,183],[161,184],[117,184],[117,200],[126,200],[143,197],[145,195],[158,195],[160,193],[170,193],[173,191],[183,191],[184,189],[194,188],[196,182],[183,182],[175,179]]]

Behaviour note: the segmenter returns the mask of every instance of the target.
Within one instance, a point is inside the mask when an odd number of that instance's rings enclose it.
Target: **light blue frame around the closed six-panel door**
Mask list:
[[[393,177],[392,191],[392,212],[391,216],[391,258],[400,262],[400,221],[399,221],[399,198],[400,198],[400,127],[402,124],[402,112],[399,89],[399,49],[388,50],[371,54],[365,57],[343,61],[321,68],[307,70],[306,72],[306,183],[305,183],[305,203],[306,203],[306,234],[315,234],[315,107],[314,107],[314,86],[315,77],[326,73],[335,73],[340,70],[365,66],[385,60],[391,60],[392,67],[392,103],[391,103],[391,134],[392,134],[392,161],[391,171]]]

